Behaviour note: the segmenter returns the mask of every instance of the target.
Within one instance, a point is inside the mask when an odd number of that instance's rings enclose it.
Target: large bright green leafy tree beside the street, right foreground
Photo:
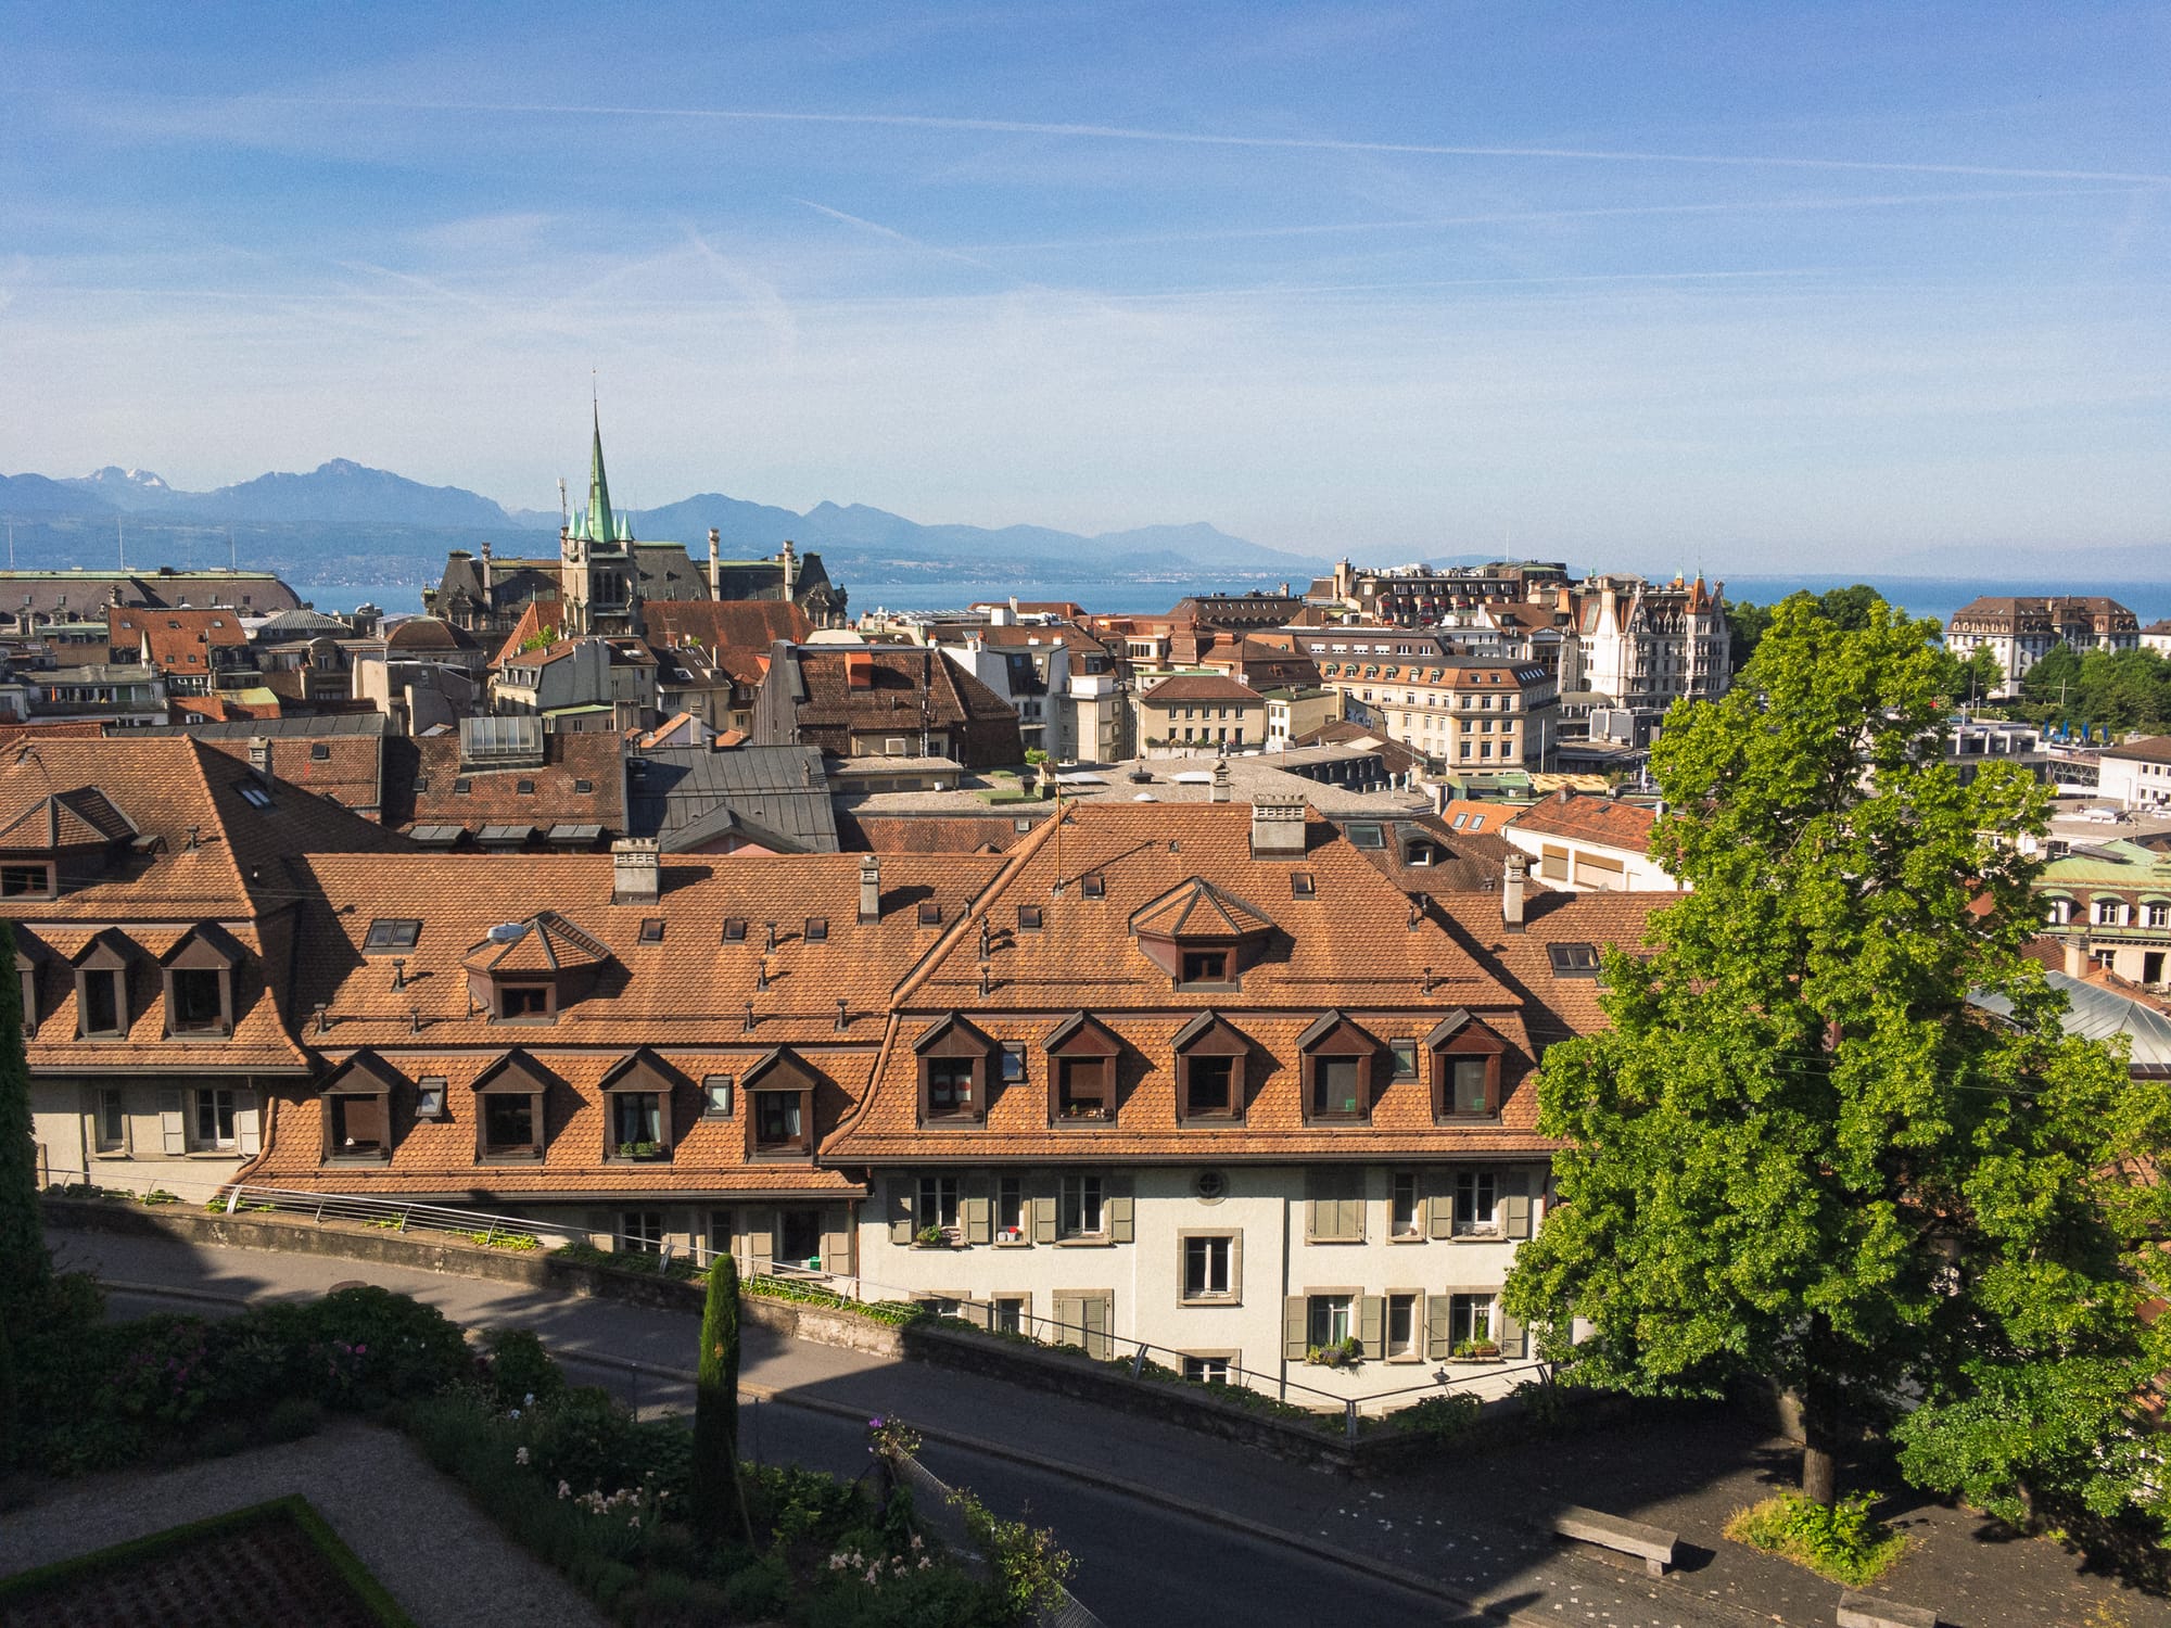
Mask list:
[[[2164,1509],[2132,1398],[2171,1368],[2138,1313],[2171,1094],[2067,1038],[2021,955],[2043,792],[1943,762],[1937,625],[1776,608],[1715,703],[1667,714],[1652,855],[1693,886],[1611,955],[1602,1033],[1552,1046],[1561,1205],[1509,1309],[1574,1378],[1804,1409],[1802,1489],[1891,1426],[1908,1474],[2013,1509]],[[1969,992],[2010,1001],[1991,1018]]]

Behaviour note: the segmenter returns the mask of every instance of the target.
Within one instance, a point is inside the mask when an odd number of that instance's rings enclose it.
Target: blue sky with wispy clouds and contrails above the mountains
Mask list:
[[[0,469],[2164,543],[2160,4],[0,4]],[[2167,556],[2171,558],[2171,556]]]

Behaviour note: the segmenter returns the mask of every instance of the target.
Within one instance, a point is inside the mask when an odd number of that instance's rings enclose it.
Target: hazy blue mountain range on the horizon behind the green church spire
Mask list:
[[[74,480],[48,475],[0,475],[0,514],[43,523],[39,530],[82,532],[87,521],[126,517],[126,527],[152,538],[158,532],[204,532],[217,527],[278,527],[282,551],[295,567],[337,543],[352,558],[360,534],[384,534],[382,547],[443,564],[443,538],[495,536],[502,551],[547,547],[541,536],[558,530],[554,510],[506,510],[460,486],[423,486],[389,469],[369,469],[334,458],[308,473],[271,473],[208,493],[185,493],[143,469],[106,467]],[[723,493],[699,493],[677,504],[632,512],[634,536],[682,540],[706,556],[708,532],[723,536],[729,554],[773,554],[786,538],[801,551],[827,558],[831,575],[845,564],[866,577],[884,567],[918,575],[953,567],[1049,564],[1066,571],[1092,569],[1112,575],[1159,571],[1233,571],[1248,575],[1309,577],[1320,558],[1283,554],[1194,521],[1190,525],[1142,525],[1127,532],[1081,536],[1046,525],[923,525],[866,504],[816,504],[801,512],[773,504],[751,504]],[[510,536],[508,536],[510,534]],[[530,540],[532,538],[532,540]],[[156,547],[145,538],[148,547]],[[297,569],[297,575],[308,575]]]

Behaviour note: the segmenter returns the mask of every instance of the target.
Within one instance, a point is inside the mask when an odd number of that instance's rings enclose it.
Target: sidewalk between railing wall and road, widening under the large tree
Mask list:
[[[515,1285],[402,1272],[356,1261],[189,1248],[93,1233],[54,1233],[65,1265],[100,1276],[221,1296],[317,1294],[363,1279],[415,1294],[462,1324],[517,1322],[567,1357],[690,1368],[695,1320],[604,1300],[562,1300]],[[1826,1628],[1839,1587],[1719,1537],[1726,1517],[1793,1476],[1793,1454],[1730,1415],[1650,1417],[1607,1430],[1457,1457],[1422,1472],[1350,1483],[1279,1459],[1114,1413],[1064,1396],[923,1363],[747,1331],[742,1378],[779,1402],[834,1413],[899,1413],[931,1443],[1064,1470],[1166,1509],[1255,1537],[1415,1576],[1515,1621],[1604,1628]],[[1683,1572],[1646,1578],[1548,1537],[1559,1504],[1594,1504],[1669,1526],[1693,1546]],[[2084,1576],[2047,1541],[1989,1539],[1960,1511],[1904,1515],[1913,1552],[1880,1593],[1937,1606],[1952,1628],[2084,1628],[2112,1604],[2130,1628],[2171,1626],[2171,1606]]]

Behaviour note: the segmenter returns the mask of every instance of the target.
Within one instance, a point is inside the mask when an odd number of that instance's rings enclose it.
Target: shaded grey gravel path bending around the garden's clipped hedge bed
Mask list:
[[[54,1487],[0,1522],[0,1576],[302,1493],[423,1628],[606,1628],[588,1600],[508,1541],[393,1430],[332,1424],[304,1441]]]

